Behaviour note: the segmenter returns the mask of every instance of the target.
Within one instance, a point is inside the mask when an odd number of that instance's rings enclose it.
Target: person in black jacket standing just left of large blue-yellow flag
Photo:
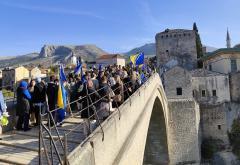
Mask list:
[[[50,82],[47,86],[47,96],[48,96],[48,107],[49,111],[53,111],[57,108],[57,92],[58,85],[54,83],[55,76],[50,76]],[[55,111],[52,112],[52,117],[55,119]],[[53,121],[51,120],[51,125],[53,125]]]

